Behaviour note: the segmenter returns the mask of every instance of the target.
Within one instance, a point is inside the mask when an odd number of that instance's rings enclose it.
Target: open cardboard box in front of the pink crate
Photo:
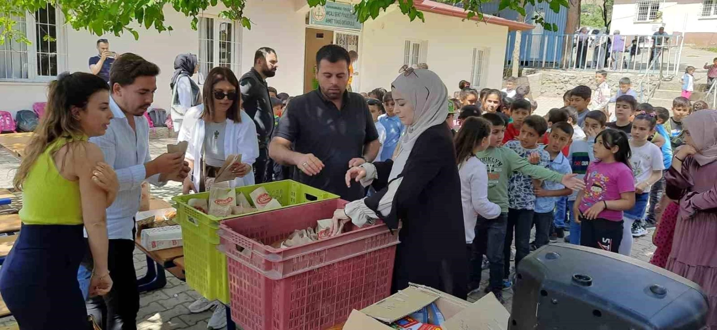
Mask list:
[[[488,293],[482,299],[470,304],[434,288],[411,283],[408,288],[389,298],[361,311],[351,311],[343,330],[391,330],[386,324],[412,314],[432,302],[436,303],[445,316],[446,321],[441,326],[442,330],[508,329],[510,314],[498,299],[495,299],[493,293]]]

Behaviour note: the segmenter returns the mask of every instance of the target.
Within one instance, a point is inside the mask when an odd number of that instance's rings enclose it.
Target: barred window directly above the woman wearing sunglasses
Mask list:
[[[206,77],[213,67],[227,67],[235,73],[239,72],[242,38],[237,26],[233,21],[224,19],[212,17],[199,19],[197,60],[200,77]]]

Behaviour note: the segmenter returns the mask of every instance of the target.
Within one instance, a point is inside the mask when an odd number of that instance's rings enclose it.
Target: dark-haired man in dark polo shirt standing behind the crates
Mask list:
[[[346,187],[346,170],[355,162],[373,161],[380,145],[364,97],[346,91],[350,63],[348,52],[338,45],[319,49],[319,88],[291,100],[269,155],[282,165],[295,166],[294,180],[357,200],[364,197],[364,188]]]

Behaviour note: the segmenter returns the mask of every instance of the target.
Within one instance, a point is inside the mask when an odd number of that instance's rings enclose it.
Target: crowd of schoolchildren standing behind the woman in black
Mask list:
[[[684,143],[682,121],[707,105],[692,107],[678,97],[670,116],[663,107],[638,104],[628,78],[619,80],[612,96],[606,76],[597,72],[596,89],[569,90],[564,107],[544,117],[533,114],[537,104],[526,97],[529,89],[516,86],[513,77],[503,90],[478,91],[460,82],[446,122],[454,130],[461,178],[469,291],[479,288],[488,268],[483,289],[501,299],[513,283],[511,261],[518,266],[528,253],[559,238],[630,256],[633,237],[658,222],[652,263],[665,265],[678,207],[663,197],[663,175],[673,150]],[[367,97],[384,132],[379,159],[386,160],[403,127],[392,115],[390,92],[374,89]]]

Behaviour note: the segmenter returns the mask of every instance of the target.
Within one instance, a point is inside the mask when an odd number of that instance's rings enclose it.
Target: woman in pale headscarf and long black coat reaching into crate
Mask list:
[[[407,127],[394,160],[364,163],[346,173],[346,184],[373,185],[371,197],[346,205],[335,220],[356,225],[377,218],[399,227],[399,244],[391,291],[408,283],[430,286],[453,296],[467,296],[465,228],[460,178],[455,166],[447,90],[427,69],[408,69],[391,84],[394,112]]]

